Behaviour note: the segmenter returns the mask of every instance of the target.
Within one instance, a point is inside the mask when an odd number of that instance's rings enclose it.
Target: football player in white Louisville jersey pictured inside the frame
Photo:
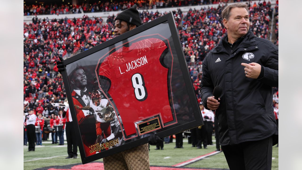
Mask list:
[[[104,132],[104,138],[107,138],[111,135],[110,122],[115,115],[114,109],[109,105],[107,99],[101,99],[101,92],[99,90],[94,90],[91,94],[90,106],[77,106],[75,107],[79,110],[90,110],[93,109],[96,115],[97,121],[95,122],[96,129],[96,143],[101,142],[101,135]],[[107,115],[105,115],[107,113]]]

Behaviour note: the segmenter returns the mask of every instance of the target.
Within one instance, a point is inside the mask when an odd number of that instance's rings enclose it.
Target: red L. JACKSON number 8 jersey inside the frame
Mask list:
[[[163,109],[170,106],[169,69],[160,62],[166,48],[162,40],[147,38],[119,48],[101,63],[99,75],[110,80],[108,93],[127,136],[136,133],[134,122],[140,119],[160,113],[163,123],[173,120],[171,109]]]

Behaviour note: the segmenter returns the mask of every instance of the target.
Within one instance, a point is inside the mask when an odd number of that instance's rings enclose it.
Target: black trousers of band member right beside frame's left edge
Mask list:
[[[72,122],[66,122],[67,153],[69,157],[77,156],[78,145],[76,142],[76,133]]]

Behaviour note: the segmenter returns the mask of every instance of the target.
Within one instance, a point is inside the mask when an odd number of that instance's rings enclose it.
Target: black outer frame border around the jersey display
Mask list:
[[[62,64],[66,68],[66,66],[68,66],[69,64],[72,64],[73,62],[75,62],[77,60],[83,59],[83,58],[85,58],[85,57],[87,57],[87,56],[89,56],[89,55],[91,55],[95,52],[98,52],[98,51],[100,51],[104,48],[110,47],[110,46],[112,46],[112,45],[114,45],[118,42],[121,42],[121,41],[123,41],[123,40],[125,40],[125,39],[127,39],[131,36],[139,34],[139,33],[143,32],[143,31],[146,31],[150,28],[156,27],[157,25],[159,25],[161,23],[164,23],[164,22],[168,23],[168,25],[169,25],[169,28],[170,28],[170,31],[171,31],[172,41],[174,43],[174,49],[175,49],[174,52],[177,54],[178,61],[179,61],[179,69],[182,72],[182,77],[184,79],[183,81],[185,82],[185,89],[179,89],[179,90],[181,91],[181,93],[188,95],[189,100],[190,100],[188,103],[190,104],[190,106],[191,106],[190,109],[193,112],[193,113],[188,113],[188,114],[192,114],[193,117],[194,117],[194,120],[190,121],[188,123],[181,124],[181,125],[178,125],[178,123],[176,123],[176,124],[173,124],[173,125],[169,126],[168,128],[166,128],[166,130],[163,130],[161,132],[156,132],[156,135],[159,136],[160,138],[163,138],[165,136],[170,136],[172,134],[182,132],[184,130],[191,129],[191,128],[194,128],[194,127],[197,127],[197,126],[200,126],[200,125],[204,124],[203,119],[201,117],[201,111],[199,109],[197,98],[196,98],[196,95],[194,93],[193,85],[191,83],[191,77],[190,77],[190,74],[189,74],[189,71],[188,71],[188,67],[187,67],[186,60],[185,60],[185,55],[184,55],[184,52],[183,52],[183,49],[182,49],[182,46],[181,46],[181,42],[180,42],[180,39],[179,39],[178,31],[177,31],[177,28],[176,28],[176,25],[175,25],[175,20],[174,20],[172,12],[170,12],[166,15],[163,15],[162,17],[159,17],[159,18],[157,18],[153,21],[150,21],[150,22],[148,22],[144,25],[141,25],[138,28],[130,30],[130,31],[128,31],[124,34],[121,34],[121,35],[119,35],[119,36],[117,36],[117,37],[115,37],[111,40],[108,40],[104,43],[101,43],[101,44],[91,48],[91,49],[83,51],[82,53],[79,53],[79,54],[77,54],[73,57],[70,57],[70,58],[62,61]],[[72,119],[77,120],[76,110],[73,107],[74,103],[72,101],[72,94],[71,94],[72,90],[69,86],[69,80],[68,80],[68,75],[67,75],[66,70],[64,70],[61,74],[63,76],[63,83],[65,85],[66,95],[67,95],[67,99],[69,101],[69,106],[70,106],[69,109],[70,109],[70,112],[71,112]],[[142,144],[148,142],[148,136],[146,136],[146,137],[143,137],[143,138],[131,141],[131,142],[126,142],[123,145],[114,147],[112,149],[106,150],[106,151],[102,152],[102,154],[95,154],[95,155],[91,155],[91,156],[86,157],[85,152],[84,152],[84,146],[83,146],[82,139],[81,139],[79,124],[77,123],[77,121],[73,121],[73,122],[74,122],[73,123],[73,128],[76,131],[76,138],[77,138],[77,142],[78,142],[80,155],[81,155],[81,159],[82,159],[83,164],[88,163],[88,162],[92,162],[92,161],[95,161],[95,160],[98,160],[98,159],[101,159],[101,158],[104,158],[108,155],[112,155],[112,154],[130,149],[132,147],[142,145]]]

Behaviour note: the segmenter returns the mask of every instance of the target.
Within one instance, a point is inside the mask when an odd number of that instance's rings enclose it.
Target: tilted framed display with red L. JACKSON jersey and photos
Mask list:
[[[172,13],[62,63],[83,164],[203,124]]]

